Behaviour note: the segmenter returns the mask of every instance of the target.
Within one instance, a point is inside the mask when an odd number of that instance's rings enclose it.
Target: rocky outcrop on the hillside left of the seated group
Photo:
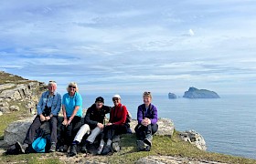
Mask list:
[[[38,97],[47,88],[44,83],[0,71],[0,115],[36,109]]]

